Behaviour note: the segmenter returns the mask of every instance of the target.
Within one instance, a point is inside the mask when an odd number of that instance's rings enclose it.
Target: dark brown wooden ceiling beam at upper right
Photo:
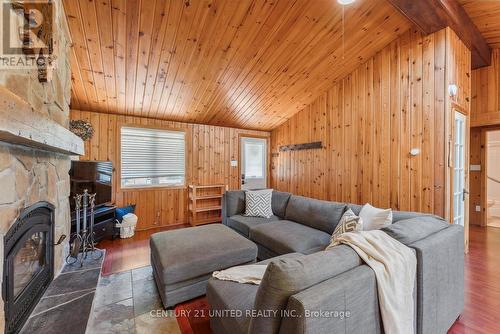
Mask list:
[[[456,0],[389,0],[422,32],[450,27],[472,53],[472,69],[491,64],[491,48]]]

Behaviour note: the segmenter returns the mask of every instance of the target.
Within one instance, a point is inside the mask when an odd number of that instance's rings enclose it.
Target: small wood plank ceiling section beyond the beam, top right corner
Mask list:
[[[500,1],[458,0],[493,49],[500,48]]]

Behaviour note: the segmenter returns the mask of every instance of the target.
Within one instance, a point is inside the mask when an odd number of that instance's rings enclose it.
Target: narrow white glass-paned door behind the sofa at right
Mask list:
[[[466,201],[466,118],[455,112],[453,151],[453,223],[465,225]]]

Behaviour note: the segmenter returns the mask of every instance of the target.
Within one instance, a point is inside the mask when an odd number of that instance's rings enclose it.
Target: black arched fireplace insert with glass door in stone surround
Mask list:
[[[4,237],[5,333],[17,333],[54,277],[54,206],[23,210]]]

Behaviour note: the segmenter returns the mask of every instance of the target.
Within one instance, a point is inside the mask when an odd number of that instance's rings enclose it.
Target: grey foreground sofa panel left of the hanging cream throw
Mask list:
[[[375,273],[361,265],[288,300],[280,333],[381,333]]]

